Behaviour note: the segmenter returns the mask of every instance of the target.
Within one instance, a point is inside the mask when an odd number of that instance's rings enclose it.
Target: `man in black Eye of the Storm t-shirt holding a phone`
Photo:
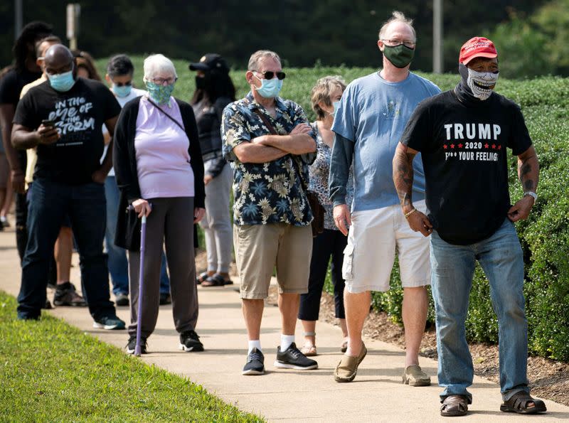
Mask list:
[[[37,146],[28,213],[28,244],[22,262],[18,318],[38,318],[46,301],[53,245],[69,215],[80,255],[81,276],[95,328],[122,329],[110,301],[105,235],[105,178],[112,149],[102,164],[102,124],[110,134],[120,106],[102,83],[77,77],[73,54],[53,45],[45,57],[48,80],[31,88],[14,116],[12,144]],[[112,140],[110,141],[112,143]]]

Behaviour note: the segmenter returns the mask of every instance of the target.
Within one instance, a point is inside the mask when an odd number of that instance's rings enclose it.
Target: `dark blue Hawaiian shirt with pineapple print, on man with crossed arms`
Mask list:
[[[297,168],[308,185],[308,165],[315,153],[296,156],[287,154],[266,163],[241,163],[233,153],[235,146],[250,142],[257,136],[270,134],[260,117],[259,109],[280,135],[289,134],[298,124],[308,123],[302,107],[290,100],[276,97],[277,117],[255,101],[251,92],[223,110],[221,136],[223,156],[233,167],[233,221],[235,225],[266,225],[287,223],[306,226],[312,221],[307,196],[302,189]],[[311,134],[314,138],[314,134]],[[297,166],[293,166],[292,161]]]

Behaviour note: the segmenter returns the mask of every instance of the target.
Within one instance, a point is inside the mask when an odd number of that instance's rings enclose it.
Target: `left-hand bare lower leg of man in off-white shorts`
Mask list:
[[[348,331],[348,350],[346,355],[357,357],[361,352],[361,331],[363,322],[369,313],[371,292],[365,291],[351,294],[344,290],[344,308],[346,309],[346,328]]]

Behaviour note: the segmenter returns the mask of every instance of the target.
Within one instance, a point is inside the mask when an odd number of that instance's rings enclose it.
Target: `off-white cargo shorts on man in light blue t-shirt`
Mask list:
[[[425,213],[425,200],[414,205]],[[430,285],[430,238],[413,232],[400,205],[354,212],[351,222],[342,266],[349,292],[388,291],[395,252],[404,288]]]

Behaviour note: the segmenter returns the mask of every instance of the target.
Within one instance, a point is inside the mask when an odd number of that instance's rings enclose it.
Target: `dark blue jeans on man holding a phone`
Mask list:
[[[38,318],[46,304],[46,285],[53,245],[69,215],[79,247],[81,283],[93,318],[115,316],[110,301],[105,235],[105,189],[98,183],[66,185],[38,178],[28,206],[28,242],[22,261],[18,318]]]

